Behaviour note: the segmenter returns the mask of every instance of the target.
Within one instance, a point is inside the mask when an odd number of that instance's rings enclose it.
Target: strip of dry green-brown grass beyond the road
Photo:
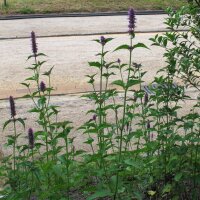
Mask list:
[[[162,10],[168,6],[179,8],[186,0],[0,0],[0,14],[106,12],[136,10]]]

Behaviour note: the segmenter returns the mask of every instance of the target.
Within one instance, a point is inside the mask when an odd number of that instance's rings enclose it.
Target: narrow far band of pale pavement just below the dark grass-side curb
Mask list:
[[[136,31],[165,30],[167,15],[138,15]],[[60,17],[20,20],[0,20],[0,39],[29,37],[34,30],[38,36],[121,33],[127,31],[127,16]]]

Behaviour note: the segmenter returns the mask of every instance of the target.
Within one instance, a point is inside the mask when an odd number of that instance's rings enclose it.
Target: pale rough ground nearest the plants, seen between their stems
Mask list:
[[[198,92],[193,89],[189,89],[187,92],[193,99],[197,98]],[[117,101],[122,101],[123,96],[119,95],[117,97]],[[180,103],[183,106],[183,109],[180,111],[179,116],[182,116],[189,112],[191,107],[195,104],[195,100],[187,100],[185,102]],[[53,96],[51,98],[52,105],[60,106],[60,113],[58,116],[58,120],[69,120],[73,122],[74,129],[71,132],[72,137],[76,137],[75,139],[75,147],[77,149],[82,148],[86,151],[90,151],[88,145],[84,144],[86,136],[80,131],[77,130],[78,127],[83,125],[84,122],[92,118],[92,115],[86,115],[86,112],[90,109],[94,108],[94,104],[92,101],[87,100],[85,98],[81,98],[79,95],[64,95],[64,96]],[[186,105],[186,106],[185,106]],[[26,128],[25,130],[22,128],[21,125],[17,126],[18,131],[22,132],[24,139],[20,142],[27,143],[27,130],[28,128],[32,127],[34,131],[40,130],[40,127],[35,122],[37,119],[37,115],[27,112],[33,108],[33,103],[31,100],[26,99],[17,99],[16,100],[16,110],[17,110],[17,117],[21,117],[26,119]],[[200,111],[200,110],[199,110]],[[10,118],[10,108],[9,102],[7,100],[0,101],[0,112],[1,112],[1,123],[0,123],[0,130],[2,130],[3,122]],[[110,117],[111,118],[111,117]],[[3,145],[6,142],[6,136],[9,134],[13,134],[13,127],[12,125],[8,126],[5,131],[1,132],[0,137],[0,144]],[[4,148],[4,153],[9,153],[9,149]]]

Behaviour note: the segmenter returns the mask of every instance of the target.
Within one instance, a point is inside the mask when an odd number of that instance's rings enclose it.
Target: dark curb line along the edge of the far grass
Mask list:
[[[136,11],[136,15],[162,15],[166,14],[163,10],[144,10]],[[52,14],[28,14],[28,15],[9,15],[0,16],[0,20],[34,19],[34,18],[56,18],[56,17],[100,17],[100,16],[122,16],[127,12],[95,12],[95,13],[52,13]]]

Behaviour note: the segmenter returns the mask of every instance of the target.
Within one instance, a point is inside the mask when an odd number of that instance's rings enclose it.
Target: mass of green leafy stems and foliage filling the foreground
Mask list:
[[[34,54],[32,75],[22,84],[33,101],[29,111],[37,115],[40,127],[34,132],[34,147],[19,144],[23,127],[21,118],[11,118],[4,124],[13,125],[7,146],[13,153],[4,157],[0,176],[5,180],[4,199],[189,199],[200,196],[200,98],[192,99],[190,111],[182,114],[185,102],[191,101],[187,88],[200,90],[199,10],[190,3],[177,12],[169,9],[166,25],[170,32],[151,38],[152,45],[164,48],[166,66],[157,72],[147,87],[145,71],[133,63],[137,48],[148,50],[142,43],[115,49],[124,50],[128,63],[108,62],[107,44],[112,38],[95,40],[101,49],[95,61],[89,62],[96,73],[87,75],[93,91],[83,97],[92,100],[87,111],[91,119],[79,130],[91,150],[76,151],[70,136],[72,123],[57,121],[59,107],[51,105],[50,68],[41,74],[44,54]],[[177,28],[185,27],[179,32]],[[41,80],[48,86],[41,89]],[[181,84],[174,84],[177,80]],[[98,83],[98,84],[97,84]],[[37,85],[31,91],[31,84]],[[118,90],[120,89],[120,90]],[[61,143],[62,142],[62,143]],[[63,145],[62,145],[63,144]]]

